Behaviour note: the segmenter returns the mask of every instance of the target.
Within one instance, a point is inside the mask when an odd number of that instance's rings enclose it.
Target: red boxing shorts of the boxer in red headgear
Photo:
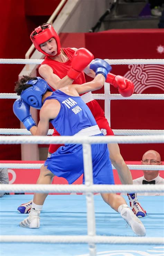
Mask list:
[[[97,118],[95,118],[100,131],[102,132],[103,135],[114,135],[112,129],[109,126],[108,120],[105,118],[105,116],[97,116]],[[60,134],[55,130],[54,128],[54,132],[53,132],[53,136],[60,136]],[[52,154],[54,153],[60,146],[63,146],[63,144],[50,144],[49,145],[49,149],[48,149],[48,153]]]

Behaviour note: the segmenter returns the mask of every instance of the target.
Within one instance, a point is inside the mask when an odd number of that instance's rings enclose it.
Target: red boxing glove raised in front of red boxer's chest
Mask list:
[[[92,53],[90,53],[89,50],[85,48],[79,48],[77,51],[75,51],[72,57],[72,66],[68,71],[67,76],[75,80],[93,59],[94,56]]]

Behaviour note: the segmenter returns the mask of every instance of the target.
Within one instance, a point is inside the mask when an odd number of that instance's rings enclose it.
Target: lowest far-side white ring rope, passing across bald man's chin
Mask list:
[[[43,163],[0,163],[0,168],[11,169],[40,169]],[[130,170],[158,170],[164,171],[164,165],[127,165]],[[112,165],[112,169],[116,168]]]

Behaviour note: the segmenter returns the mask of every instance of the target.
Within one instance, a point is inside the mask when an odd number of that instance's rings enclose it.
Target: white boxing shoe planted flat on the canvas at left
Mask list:
[[[31,208],[29,216],[19,223],[20,227],[29,227],[30,229],[38,229],[40,227],[40,211]]]

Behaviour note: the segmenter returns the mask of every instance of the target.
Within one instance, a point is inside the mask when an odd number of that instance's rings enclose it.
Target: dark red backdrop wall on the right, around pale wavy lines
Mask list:
[[[164,58],[157,51],[164,49],[164,29],[110,30],[100,33],[86,33],[85,47],[95,58],[109,59],[160,59]],[[111,73],[125,75],[130,65],[112,65]],[[163,66],[164,74],[164,66]],[[143,75],[143,74],[141,74]],[[156,83],[156,79],[154,82]],[[90,80],[90,79],[89,79]],[[162,88],[163,87],[163,88]],[[113,86],[111,93],[118,93]],[[104,93],[103,88],[95,93]],[[151,86],[144,94],[163,94],[164,81],[160,88]],[[104,102],[99,101],[104,107]],[[111,101],[112,129],[164,129],[164,104],[162,100],[114,100]],[[154,149],[164,159],[163,144],[120,144],[121,154],[127,161],[140,160],[143,153]]]

